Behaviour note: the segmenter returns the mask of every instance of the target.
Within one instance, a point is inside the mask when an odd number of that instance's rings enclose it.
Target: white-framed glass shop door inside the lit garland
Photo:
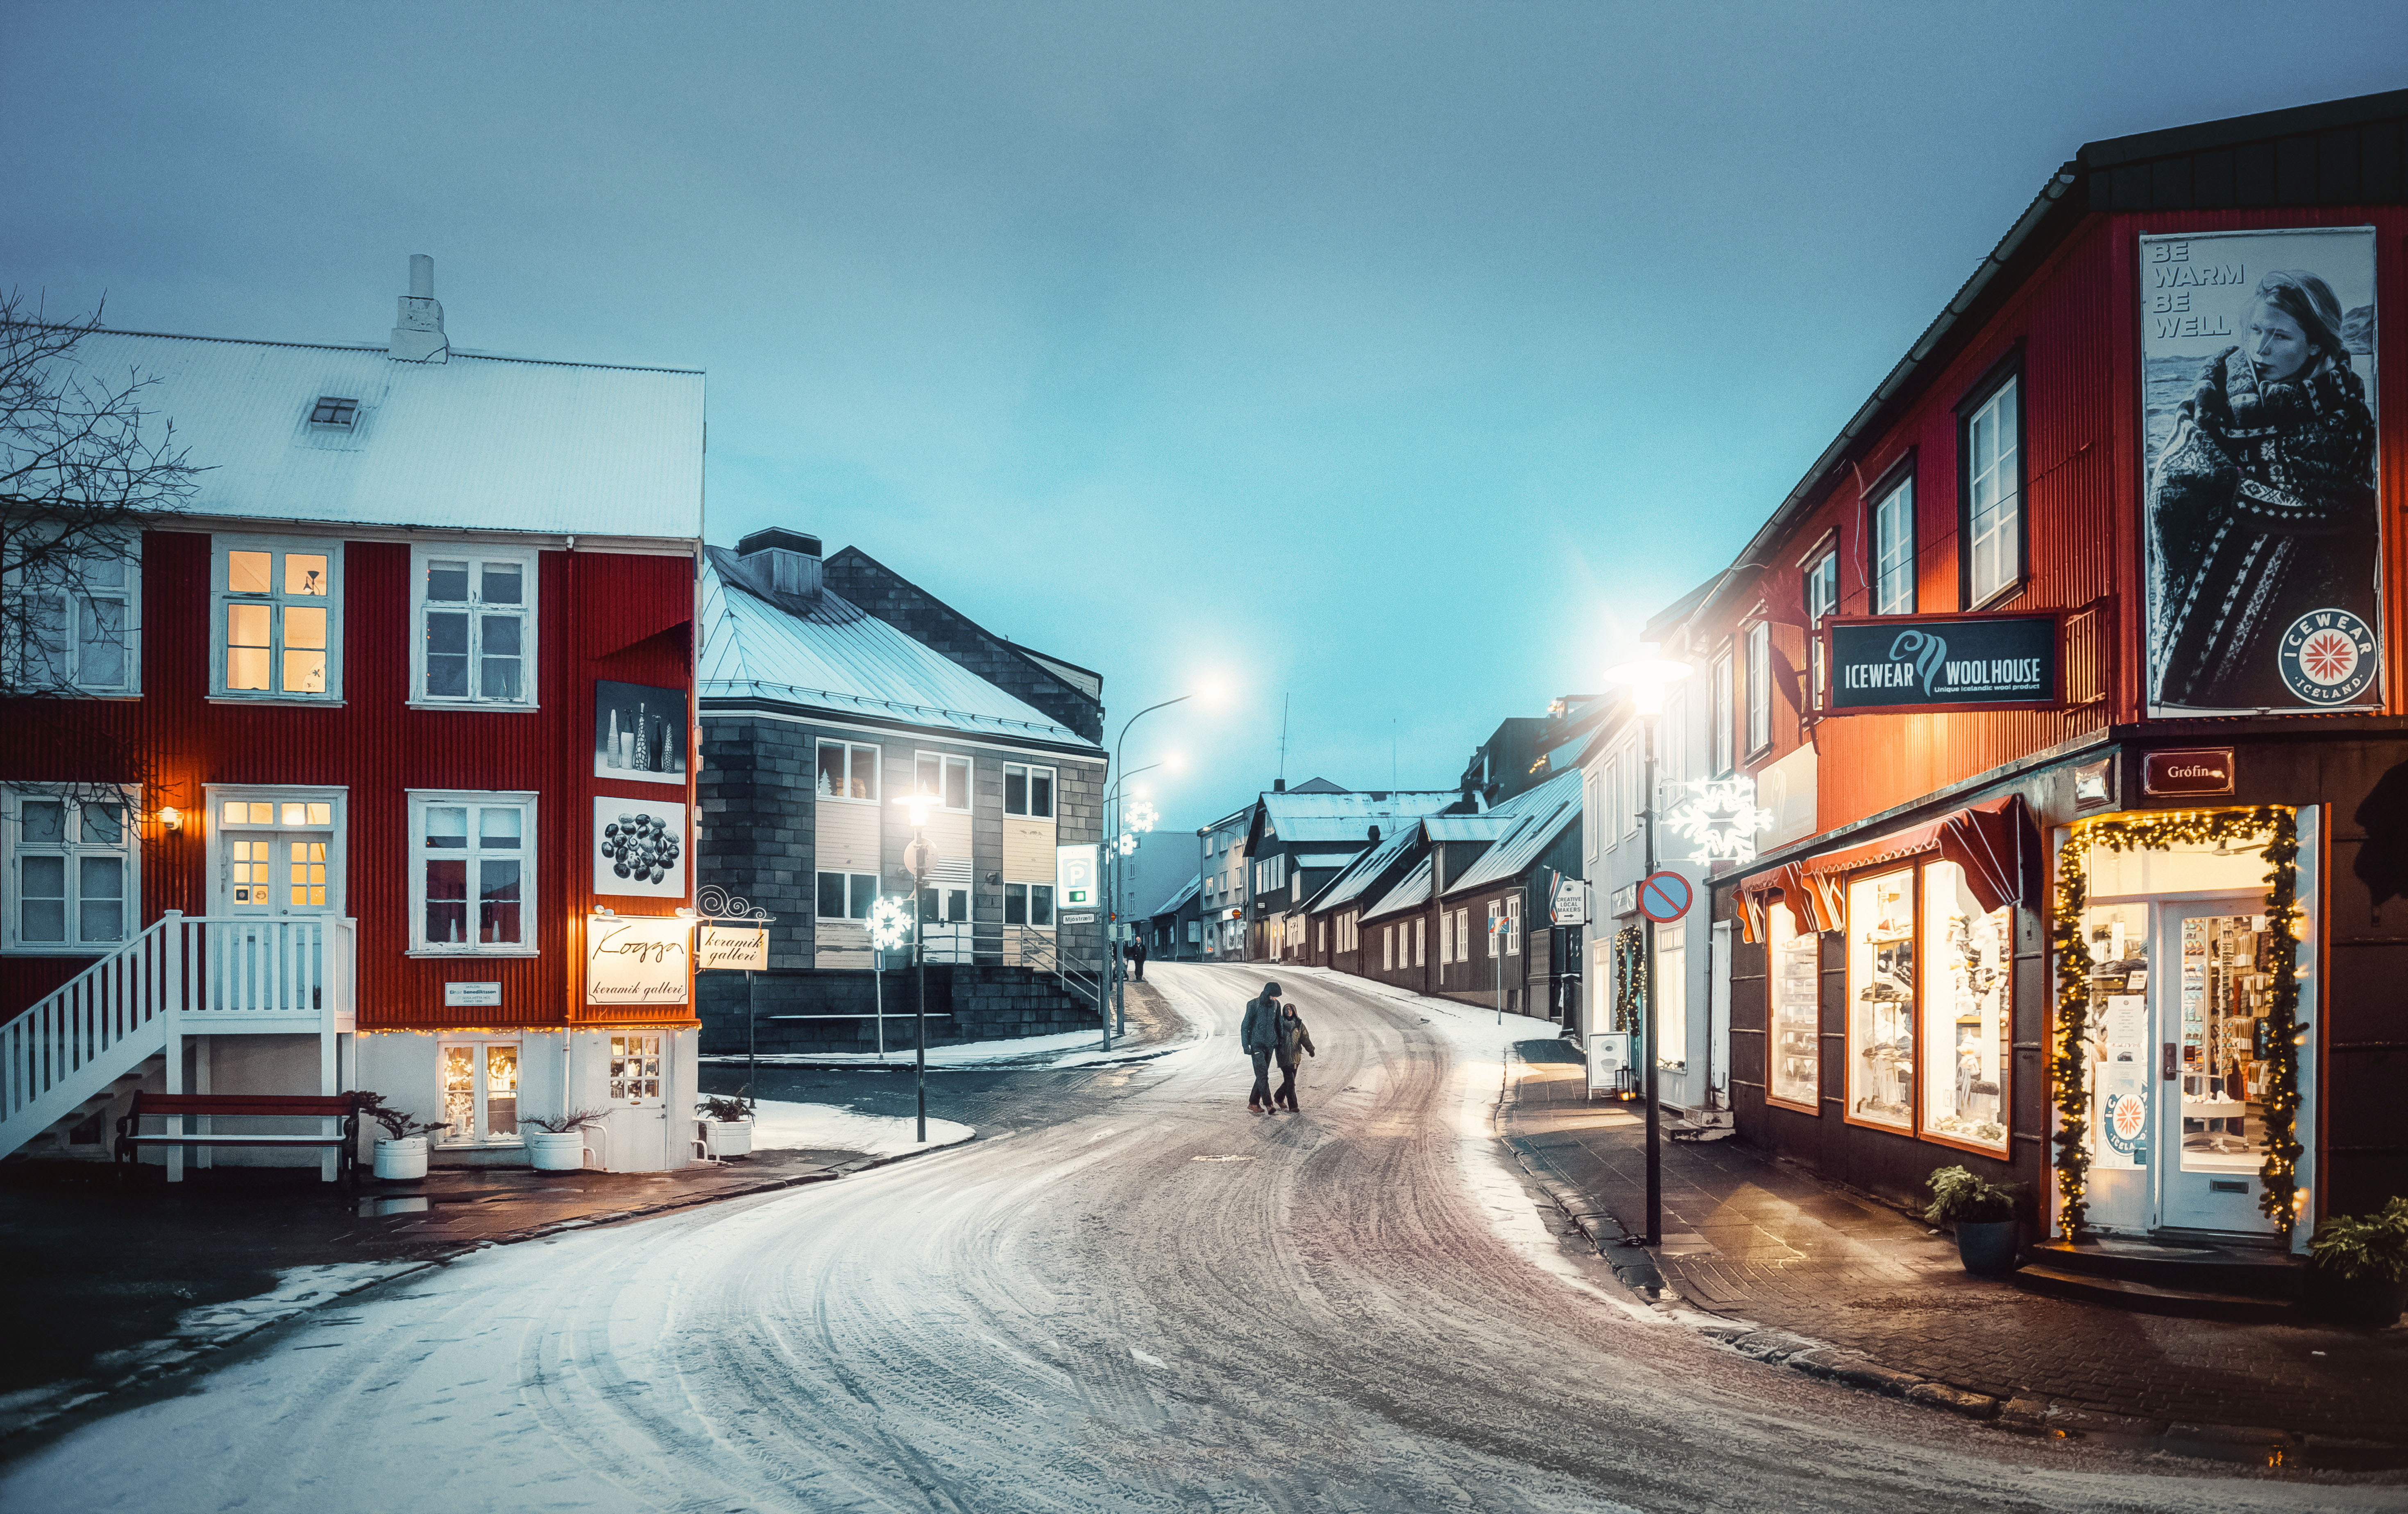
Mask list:
[[[2259,1211],[2266,1163],[2264,895],[2158,905],[2155,1009],[2158,1225],[2273,1235]]]

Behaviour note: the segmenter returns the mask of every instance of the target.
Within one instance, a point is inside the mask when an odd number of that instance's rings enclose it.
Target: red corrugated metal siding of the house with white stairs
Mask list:
[[[144,818],[142,919],[209,907],[214,847],[202,785],[320,785],[347,789],[344,912],[359,919],[359,1025],[436,1028],[460,1023],[443,1009],[443,982],[503,984],[498,1011],[477,1025],[559,1025],[583,975],[583,917],[592,905],[592,797],[684,802],[686,789],[626,785],[592,775],[595,679],[691,688],[686,621],[691,561],[674,556],[539,556],[539,712],[412,710],[409,546],[347,542],[342,578],[340,708],[209,703],[209,537],[142,537],[142,700],[43,700],[19,712],[55,739],[0,756],[10,780],[92,777],[79,751],[101,737],[149,753],[157,782],[144,811],[173,804],[190,816],[181,833]],[[645,638],[602,657],[580,655],[588,623]],[[657,628],[657,631],[655,631]],[[686,727],[691,732],[691,710]],[[691,734],[689,734],[691,741]],[[407,789],[532,789],[537,802],[537,958],[409,958]],[[691,857],[691,847],[689,847]],[[689,871],[691,876],[691,871]],[[609,900],[619,912],[667,905]],[[22,1009],[82,970],[84,960],[7,958],[0,984]],[[585,1016],[578,1013],[583,1021]],[[657,1016],[653,1016],[657,1018]]]

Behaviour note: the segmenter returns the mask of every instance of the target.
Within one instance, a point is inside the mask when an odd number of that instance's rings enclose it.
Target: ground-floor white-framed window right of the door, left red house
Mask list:
[[[412,951],[535,951],[535,794],[412,789],[409,840]]]

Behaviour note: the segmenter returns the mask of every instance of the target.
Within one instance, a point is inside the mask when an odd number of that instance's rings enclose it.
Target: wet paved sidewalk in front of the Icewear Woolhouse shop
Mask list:
[[[1645,1126],[1524,1042],[1498,1131],[1642,1297],[1748,1355],[2042,1435],[2191,1456],[2408,1463],[2408,1329],[2220,1324],[2040,1297],[1953,1237],[1736,1139],[1664,1141],[1649,1268]],[[1565,1052],[1568,1054],[1568,1052]],[[1649,1271],[1662,1273],[1664,1293]]]

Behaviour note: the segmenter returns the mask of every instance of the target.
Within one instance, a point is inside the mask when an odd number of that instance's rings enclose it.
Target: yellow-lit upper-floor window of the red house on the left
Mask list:
[[[209,693],[342,698],[342,542],[217,537]]]

